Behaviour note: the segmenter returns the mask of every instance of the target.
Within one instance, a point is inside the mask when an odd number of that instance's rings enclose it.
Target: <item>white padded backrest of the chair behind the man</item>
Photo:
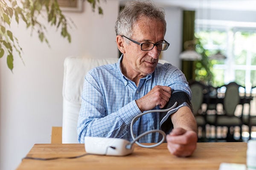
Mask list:
[[[77,120],[81,107],[81,92],[84,76],[87,72],[100,65],[112,64],[118,58],[93,59],[86,57],[67,57],[64,61],[63,80],[63,120],[62,143],[78,143],[76,132]],[[165,60],[159,60],[165,63]]]

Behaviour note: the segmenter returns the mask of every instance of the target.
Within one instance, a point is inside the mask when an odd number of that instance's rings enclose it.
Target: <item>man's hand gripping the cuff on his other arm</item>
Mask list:
[[[159,105],[163,108],[169,101],[172,94],[172,89],[168,86],[156,85],[151,91],[142,98],[136,100],[140,111],[148,111]]]

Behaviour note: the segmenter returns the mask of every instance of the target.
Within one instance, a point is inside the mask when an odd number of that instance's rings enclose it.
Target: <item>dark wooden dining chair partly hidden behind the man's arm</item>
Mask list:
[[[189,86],[192,91],[192,107],[193,107],[193,114],[195,116],[196,122],[198,127],[202,128],[202,136],[201,140],[205,141],[206,139],[206,118],[205,118],[205,112],[202,111],[201,105],[203,103],[204,99],[204,89],[205,85],[198,81],[192,81],[189,82]],[[198,136],[200,137],[200,136]],[[199,139],[200,141],[200,139]]]

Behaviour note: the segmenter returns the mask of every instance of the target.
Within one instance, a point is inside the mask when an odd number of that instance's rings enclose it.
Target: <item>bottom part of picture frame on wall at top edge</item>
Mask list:
[[[62,11],[82,12],[84,0],[57,0]]]

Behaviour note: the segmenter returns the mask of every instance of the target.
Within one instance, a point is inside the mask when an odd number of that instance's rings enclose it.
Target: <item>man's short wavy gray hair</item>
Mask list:
[[[125,5],[116,20],[116,35],[125,35],[131,37],[134,23],[141,17],[150,17],[163,23],[164,33],[166,33],[166,20],[163,8],[156,7],[149,1],[130,1]]]

